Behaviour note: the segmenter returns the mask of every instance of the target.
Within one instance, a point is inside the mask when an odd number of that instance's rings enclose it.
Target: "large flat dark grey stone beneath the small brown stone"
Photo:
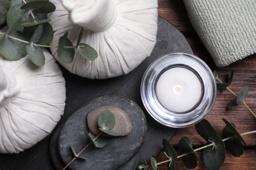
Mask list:
[[[103,148],[95,149],[93,146],[87,148],[80,155],[87,160],[75,160],[70,164],[70,169],[117,169],[131,160],[142,146],[147,126],[146,117],[139,105],[124,97],[104,95],[77,110],[60,130],[58,151],[64,163],[68,164],[74,158],[71,145],[79,152],[90,142],[85,136],[85,132],[89,131],[86,125],[87,114],[102,106],[117,107],[126,112],[131,120],[133,131],[124,137],[108,137],[108,144]]]

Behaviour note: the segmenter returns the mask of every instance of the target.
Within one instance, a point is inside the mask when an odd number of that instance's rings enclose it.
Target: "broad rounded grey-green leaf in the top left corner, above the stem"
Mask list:
[[[22,22],[19,23],[18,27],[16,28],[18,31],[22,31],[23,27],[20,26],[20,24],[24,24],[25,22],[28,22],[28,16],[29,13],[26,10],[20,9],[21,4],[13,5],[7,12],[7,25],[11,27],[12,24],[15,24],[17,18],[22,18]]]

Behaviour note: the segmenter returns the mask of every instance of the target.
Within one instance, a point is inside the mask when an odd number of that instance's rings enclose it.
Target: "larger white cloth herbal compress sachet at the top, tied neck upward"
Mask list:
[[[90,61],[75,52],[72,63],[54,58],[68,71],[87,78],[125,75],[150,56],[158,29],[158,0],[50,0],[56,10],[49,14],[54,29],[52,44],[68,31],[75,46],[81,27],[81,42],[98,52]]]

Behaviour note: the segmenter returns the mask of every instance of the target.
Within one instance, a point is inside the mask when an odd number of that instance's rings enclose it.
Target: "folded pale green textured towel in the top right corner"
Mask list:
[[[256,52],[256,0],[183,0],[217,67]]]

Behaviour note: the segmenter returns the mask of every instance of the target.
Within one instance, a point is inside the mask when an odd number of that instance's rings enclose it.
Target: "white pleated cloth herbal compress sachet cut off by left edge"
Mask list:
[[[0,152],[18,153],[49,135],[65,107],[62,71],[46,50],[45,65],[0,56]]]

